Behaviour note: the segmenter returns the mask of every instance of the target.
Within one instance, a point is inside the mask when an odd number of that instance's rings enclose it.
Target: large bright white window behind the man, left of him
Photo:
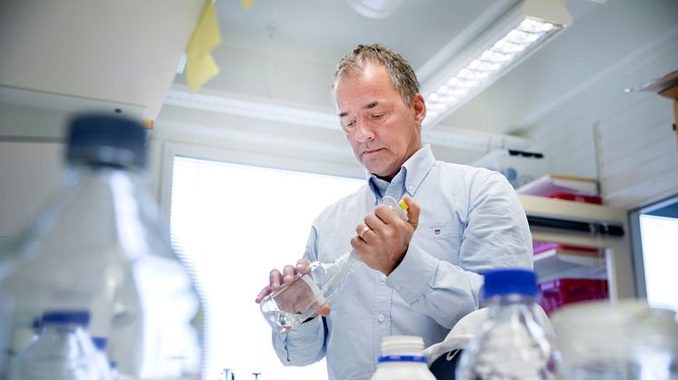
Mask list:
[[[271,268],[302,257],[320,211],[364,180],[178,156],[173,168],[170,234],[205,301],[204,378],[326,378],[324,361],[280,364],[254,297]]]

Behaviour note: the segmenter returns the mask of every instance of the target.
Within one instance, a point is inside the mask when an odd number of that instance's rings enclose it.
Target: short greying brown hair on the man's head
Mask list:
[[[416,93],[419,93],[419,81],[410,63],[407,63],[402,55],[397,54],[383,44],[359,44],[353,52],[344,55],[344,57],[334,67],[332,74],[332,89],[344,75],[360,73],[363,71],[366,63],[382,63],[391,80],[391,85],[400,93],[403,102],[408,107],[412,104],[412,99]]]

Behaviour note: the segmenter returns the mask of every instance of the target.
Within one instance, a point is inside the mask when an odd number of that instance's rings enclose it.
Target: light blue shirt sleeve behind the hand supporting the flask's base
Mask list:
[[[317,259],[317,229],[311,229],[306,242],[304,258]],[[315,317],[286,333],[273,332],[275,354],[283,365],[310,365],[321,360],[326,353],[327,325],[324,317]]]

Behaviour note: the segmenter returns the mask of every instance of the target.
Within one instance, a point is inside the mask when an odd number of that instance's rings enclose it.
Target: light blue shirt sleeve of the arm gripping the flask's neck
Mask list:
[[[459,265],[411,244],[386,279],[408,305],[447,328],[481,306],[484,270],[533,268],[527,218],[504,176],[491,174],[480,186],[472,185],[469,195]]]

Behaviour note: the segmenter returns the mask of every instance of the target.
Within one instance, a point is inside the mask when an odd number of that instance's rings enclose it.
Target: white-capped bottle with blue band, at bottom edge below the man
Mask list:
[[[384,336],[382,356],[370,380],[435,380],[420,336]]]

